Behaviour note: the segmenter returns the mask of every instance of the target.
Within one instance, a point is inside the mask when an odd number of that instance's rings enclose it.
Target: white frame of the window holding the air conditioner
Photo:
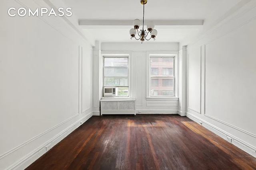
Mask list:
[[[111,67],[111,66],[104,66],[104,59],[105,58],[127,58],[127,62],[128,62],[128,66],[127,67],[123,67],[123,66],[116,66],[116,67]],[[128,69],[128,76],[117,76],[116,78],[126,78],[127,77],[127,86],[105,86],[104,85],[104,80],[105,80],[105,69],[104,68],[127,68]],[[109,76],[107,76],[109,77]],[[104,89],[104,87],[128,87],[128,96],[113,96],[115,98],[128,98],[130,97],[130,55],[102,55],[102,89]],[[118,90],[116,91],[116,93],[118,93]],[[104,92],[102,93],[102,98],[104,98]],[[108,97],[110,98],[110,97]]]

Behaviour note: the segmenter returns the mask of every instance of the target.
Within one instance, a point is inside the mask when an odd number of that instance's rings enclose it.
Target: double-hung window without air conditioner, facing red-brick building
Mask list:
[[[150,96],[174,96],[174,57],[150,56]]]

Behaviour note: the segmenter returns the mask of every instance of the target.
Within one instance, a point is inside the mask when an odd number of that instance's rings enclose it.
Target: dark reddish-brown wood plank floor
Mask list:
[[[187,117],[94,116],[27,170],[255,170],[256,158]]]

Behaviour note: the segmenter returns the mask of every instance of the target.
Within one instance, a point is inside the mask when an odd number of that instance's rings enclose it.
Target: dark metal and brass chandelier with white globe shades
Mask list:
[[[147,24],[147,28],[148,28],[148,31],[146,31],[146,29],[144,30],[144,7],[145,7],[145,4],[148,2],[148,0],[140,0],[140,3],[143,5],[143,21],[142,21],[142,29],[140,29],[140,31],[138,30],[139,27],[140,27],[140,20],[139,19],[136,19],[133,21],[133,26],[134,28],[130,29],[130,35],[131,35],[131,39],[132,38],[135,38],[136,40],[139,40],[141,41],[141,43],[143,43],[143,41],[146,40],[150,40],[150,39],[154,39],[155,40],[155,37],[157,35],[157,31],[156,29],[154,29],[155,25],[152,21],[148,22]],[[135,35],[138,33],[138,38],[135,37]],[[148,33],[150,33],[151,37],[150,38],[146,38],[148,36]]]

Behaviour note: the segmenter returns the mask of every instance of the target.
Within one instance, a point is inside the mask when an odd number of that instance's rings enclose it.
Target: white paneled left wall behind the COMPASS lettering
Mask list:
[[[38,1],[48,7],[43,1]],[[60,17],[10,17],[1,2],[0,169],[24,169],[92,116],[92,47]]]

